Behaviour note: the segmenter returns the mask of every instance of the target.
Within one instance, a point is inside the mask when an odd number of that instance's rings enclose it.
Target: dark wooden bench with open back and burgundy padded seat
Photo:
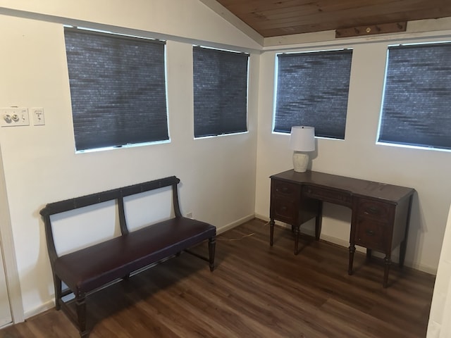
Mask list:
[[[63,309],[68,318],[78,327],[80,337],[89,335],[86,320],[86,296],[99,288],[121,279],[128,279],[131,273],[171,256],[178,256],[181,251],[187,251],[191,246],[206,239],[209,241],[209,258],[196,256],[209,261],[210,270],[214,270],[216,227],[182,216],[178,203],[177,184],[179,182],[180,180],[175,176],[166,177],[107,192],[58,201],[47,204],[40,211],[44,219],[47,249],[54,278],[56,309]],[[125,220],[124,197],[170,186],[172,187],[175,217],[129,232]],[[113,200],[116,200],[118,208],[121,236],[58,256],[55,249],[51,215]],[[64,282],[68,289],[63,290],[61,282]],[[63,297],[70,294],[73,294],[71,300],[63,300]],[[69,306],[69,303],[74,301],[75,311],[71,310]]]

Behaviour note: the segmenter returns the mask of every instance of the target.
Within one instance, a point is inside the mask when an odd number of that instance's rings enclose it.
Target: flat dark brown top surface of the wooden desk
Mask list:
[[[360,180],[352,177],[319,173],[307,170],[305,173],[297,173],[295,170],[287,170],[283,173],[271,175],[271,179],[283,180],[297,184],[309,184],[319,187],[340,189],[352,195],[384,199],[387,201],[400,201],[415,192],[415,189],[400,187],[393,184],[385,184]]]

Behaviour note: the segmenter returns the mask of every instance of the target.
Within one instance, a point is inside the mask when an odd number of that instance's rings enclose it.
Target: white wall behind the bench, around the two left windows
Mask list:
[[[249,132],[194,140],[191,45],[252,49],[252,39],[196,0],[0,1],[0,13],[0,106],[43,107],[46,122],[0,128],[25,317],[53,304],[39,217],[49,202],[177,175],[183,213],[220,231],[253,217],[259,56],[251,56]],[[171,143],[75,154],[65,17],[167,35]]]

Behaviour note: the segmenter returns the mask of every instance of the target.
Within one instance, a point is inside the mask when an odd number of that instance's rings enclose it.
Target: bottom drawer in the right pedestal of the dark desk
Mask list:
[[[388,245],[388,223],[376,222],[369,218],[358,218],[355,232],[355,244],[368,249],[376,249],[383,252],[390,250]]]

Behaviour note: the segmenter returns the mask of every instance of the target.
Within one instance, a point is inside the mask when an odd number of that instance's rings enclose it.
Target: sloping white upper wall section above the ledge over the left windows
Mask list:
[[[65,23],[70,20],[128,27],[173,39],[197,39],[260,49],[199,0],[0,0],[0,13]]]

